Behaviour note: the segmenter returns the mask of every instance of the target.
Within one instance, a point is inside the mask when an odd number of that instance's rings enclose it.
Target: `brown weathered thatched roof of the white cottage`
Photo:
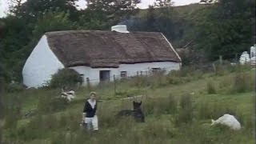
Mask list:
[[[181,62],[161,33],[74,30],[46,33],[66,66],[118,67],[141,62]]]

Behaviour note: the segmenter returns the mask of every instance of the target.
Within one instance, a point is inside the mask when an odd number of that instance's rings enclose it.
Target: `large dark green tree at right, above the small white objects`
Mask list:
[[[195,14],[194,36],[198,48],[211,59],[234,58],[254,42],[254,3],[250,0],[220,0]]]

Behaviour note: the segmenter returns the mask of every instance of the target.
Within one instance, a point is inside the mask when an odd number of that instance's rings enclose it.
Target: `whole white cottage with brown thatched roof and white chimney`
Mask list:
[[[179,70],[181,58],[161,33],[129,32],[126,26],[111,31],[71,30],[48,32],[26,60],[23,83],[42,86],[59,69],[76,70],[92,82],[133,76],[138,71]]]

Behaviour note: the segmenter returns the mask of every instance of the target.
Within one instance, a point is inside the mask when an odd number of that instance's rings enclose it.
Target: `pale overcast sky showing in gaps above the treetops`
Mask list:
[[[8,10],[8,1],[10,0],[0,0],[0,18],[5,16],[5,12]],[[142,3],[139,5],[140,8],[145,9],[150,4],[153,4],[155,0],[142,0]],[[199,2],[200,0],[173,0],[175,6],[188,5],[190,3]],[[85,6],[85,1],[80,0],[78,2],[79,6]]]

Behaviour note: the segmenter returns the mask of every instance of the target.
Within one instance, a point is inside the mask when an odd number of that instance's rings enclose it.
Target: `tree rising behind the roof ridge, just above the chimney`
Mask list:
[[[89,24],[96,23],[97,27],[102,26],[100,30],[106,30],[136,14],[137,5],[141,0],[86,0],[86,2],[87,8],[83,11],[82,21]]]

